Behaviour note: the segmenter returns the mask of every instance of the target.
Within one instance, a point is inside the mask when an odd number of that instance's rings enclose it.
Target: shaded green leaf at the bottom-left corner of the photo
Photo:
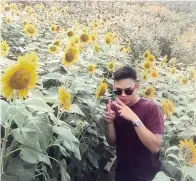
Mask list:
[[[9,179],[15,176],[12,181],[31,181],[35,168],[35,165],[27,165],[20,159],[13,159],[9,163],[5,173],[8,177],[5,176],[2,180],[10,181]]]

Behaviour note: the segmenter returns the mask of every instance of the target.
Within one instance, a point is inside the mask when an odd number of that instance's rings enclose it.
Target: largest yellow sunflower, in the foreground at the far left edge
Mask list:
[[[36,87],[38,74],[34,64],[20,60],[4,72],[1,78],[3,96],[10,100],[14,91],[19,99],[26,98],[30,88]]]

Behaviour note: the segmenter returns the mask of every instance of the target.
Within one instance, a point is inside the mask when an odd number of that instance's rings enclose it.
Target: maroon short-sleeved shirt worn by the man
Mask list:
[[[129,106],[147,129],[154,134],[163,134],[164,120],[161,108],[151,100],[140,98]],[[140,141],[133,124],[121,117],[116,107],[114,120],[117,146],[115,181],[151,181],[159,171],[159,153],[152,154]]]

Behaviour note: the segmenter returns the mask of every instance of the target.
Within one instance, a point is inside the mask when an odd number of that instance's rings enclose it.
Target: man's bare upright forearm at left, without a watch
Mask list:
[[[114,123],[107,124],[106,139],[108,144],[110,145],[116,144],[116,131],[115,131]]]

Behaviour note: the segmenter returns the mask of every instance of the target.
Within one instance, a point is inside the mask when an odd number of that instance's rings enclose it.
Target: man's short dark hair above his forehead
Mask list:
[[[131,66],[124,66],[114,72],[114,80],[133,79],[137,81],[137,73]]]

